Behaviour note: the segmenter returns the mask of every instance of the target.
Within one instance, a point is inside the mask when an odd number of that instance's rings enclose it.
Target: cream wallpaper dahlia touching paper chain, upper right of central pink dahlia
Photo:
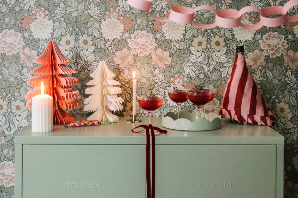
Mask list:
[[[180,40],[183,38],[185,26],[186,25],[184,24],[176,23],[170,20],[162,26],[162,31],[164,32],[166,39]]]

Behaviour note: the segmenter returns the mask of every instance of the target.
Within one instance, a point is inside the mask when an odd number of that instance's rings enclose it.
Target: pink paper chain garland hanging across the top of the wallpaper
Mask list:
[[[108,1],[110,1],[112,4],[115,4],[111,0],[108,0]],[[169,20],[172,20],[176,23],[182,23],[182,24],[193,23],[195,26],[202,29],[214,28],[215,26],[219,26],[222,28],[235,28],[235,27],[241,26],[243,29],[246,29],[246,30],[257,30],[257,29],[260,29],[262,26],[276,27],[284,24],[286,21],[289,21],[289,22],[298,21],[298,14],[294,16],[288,16],[288,10],[291,7],[298,5],[298,0],[290,0],[287,3],[285,3],[284,6],[266,7],[262,10],[255,6],[246,6],[240,9],[239,11],[235,9],[221,9],[216,11],[214,8],[207,5],[201,5],[196,7],[195,9],[192,9],[190,7],[185,7],[185,6],[172,6],[169,0],[163,0],[163,1],[167,2],[171,7],[170,18],[162,19],[154,16],[150,12],[150,7],[153,2],[150,0],[128,0],[127,4],[137,9],[147,11],[154,20],[157,20],[159,22],[167,22]],[[115,5],[119,5],[119,4],[115,4]],[[124,5],[124,4],[121,4],[121,5]],[[194,14],[195,12],[201,9],[207,9],[214,12],[215,23],[199,24],[195,22]],[[241,23],[240,17],[246,12],[260,13],[260,21],[254,25],[246,25]],[[283,16],[277,17],[277,18],[266,18],[267,16],[276,15],[276,14],[281,14]]]

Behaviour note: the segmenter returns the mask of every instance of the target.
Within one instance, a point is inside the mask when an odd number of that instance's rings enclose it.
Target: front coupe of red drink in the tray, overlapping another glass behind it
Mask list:
[[[211,96],[212,92],[210,90],[195,89],[188,92],[188,98],[190,99],[190,102],[198,107],[199,119],[201,119],[201,107],[210,101]]]

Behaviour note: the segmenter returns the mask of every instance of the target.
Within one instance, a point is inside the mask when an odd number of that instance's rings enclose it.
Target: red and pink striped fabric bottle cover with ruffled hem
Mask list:
[[[236,54],[219,114],[244,124],[275,124],[272,110],[261,96],[252,74],[247,69],[245,57],[241,54]]]

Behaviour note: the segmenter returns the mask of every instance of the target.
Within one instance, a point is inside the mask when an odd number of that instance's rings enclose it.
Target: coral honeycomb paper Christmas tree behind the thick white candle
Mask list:
[[[28,100],[26,107],[31,109],[31,98],[41,94],[41,81],[44,82],[44,93],[54,98],[54,124],[69,124],[75,121],[75,116],[66,113],[63,109],[74,109],[81,106],[78,98],[82,97],[78,91],[74,91],[69,86],[79,84],[76,77],[69,77],[63,74],[77,73],[75,70],[67,67],[65,64],[70,60],[58,48],[55,41],[49,41],[44,53],[36,60],[41,64],[39,67],[30,71],[30,74],[41,76],[31,77],[28,85],[36,87],[33,91],[28,91],[25,98]],[[63,109],[62,109],[62,108]]]

